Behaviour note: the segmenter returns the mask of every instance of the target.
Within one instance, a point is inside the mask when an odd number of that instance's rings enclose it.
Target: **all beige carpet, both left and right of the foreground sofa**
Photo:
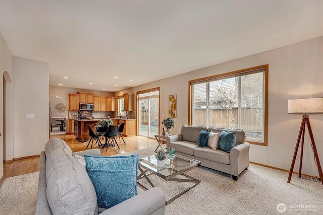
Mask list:
[[[155,147],[124,153],[152,155]],[[292,184],[287,184],[288,174],[256,165],[250,165],[234,181],[228,174],[204,167],[186,172],[201,180],[193,189],[166,205],[166,214],[280,214],[277,204],[285,203],[283,214],[323,214],[323,185],[306,181],[293,175]],[[149,176],[170,199],[189,186]],[[29,214],[35,209],[38,173],[6,179],[0,187],[0,214]],[[150,187],[145,179],[140,179]],[[313,210],[292,210],[297,205],[317,205]],[[296,205],[296,206],[295,206]]]

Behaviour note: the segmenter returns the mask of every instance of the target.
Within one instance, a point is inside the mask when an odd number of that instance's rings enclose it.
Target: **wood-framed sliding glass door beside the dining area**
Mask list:
[[[138,134],[152,137],[159,133],[159,88],[137,92]]]

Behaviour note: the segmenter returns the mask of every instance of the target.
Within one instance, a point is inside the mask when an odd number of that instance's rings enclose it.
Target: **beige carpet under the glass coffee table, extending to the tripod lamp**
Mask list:
[[[153,155],[153,150],[154,147],[123,155],[138,154],[142,158]],[[200,179],[201,183],[166,205],[166,214],[279,214],[280,203],[286,206],[284,214],[323,214],[323,185],[297,175],[288,184],[288,173],[252,164],[239,175],[238,181],[232,180],[229,174],[205,167],[185,173]],[[149,178],[164,191],[167,200],[190,186],[155,175]],[[144,178],[140,183],[151,188]]]

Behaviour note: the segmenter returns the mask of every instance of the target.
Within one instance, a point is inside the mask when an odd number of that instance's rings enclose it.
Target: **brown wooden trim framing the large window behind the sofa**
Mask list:
[[[249,144],[259,145],[259,146],[267,146],[268,144],[268,64],[265,65],[259,65],[254,66],[250,68],[244,68],[236,71],[230,71],[229,73],[223,73],[219,75],[214,76],[208,76],[205,78],[199,78],[188,81],[188,124],[192,125],[192,87],[191,85],[195,82],[200,81],[207,81],[215,78],[225,78],[226,76],[232,76],[238,74],[245,74],[247,75],[248,71],[252,73],[253,70],[264,68],[264,75],[265,75],[265,81],[264,81],[264,131],[263,131],[263,142],[260,141],[251,141],[246,140],[246,142],[249,142]]]

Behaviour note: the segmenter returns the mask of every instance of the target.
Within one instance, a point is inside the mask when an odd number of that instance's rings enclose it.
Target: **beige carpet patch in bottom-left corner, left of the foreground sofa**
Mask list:
[[[0,185],[0,214],[34,214],[39,172],[6,178]]]

